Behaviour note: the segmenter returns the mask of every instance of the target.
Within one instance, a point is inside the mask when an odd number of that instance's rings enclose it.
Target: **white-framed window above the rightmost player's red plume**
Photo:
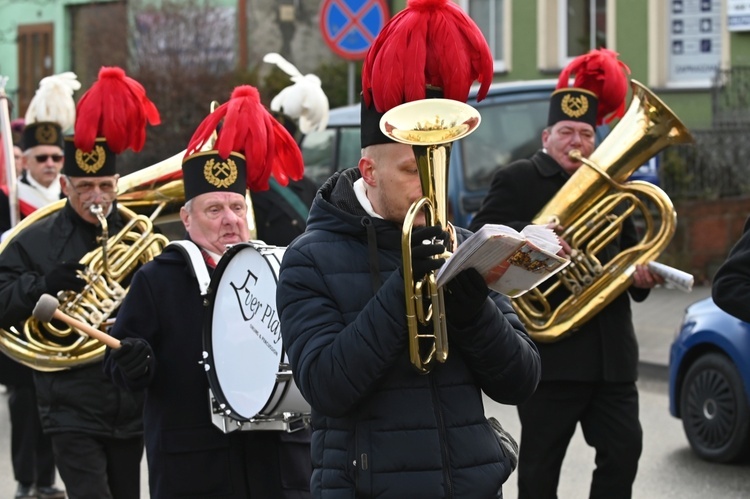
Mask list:
[[[560,0],[558,60],[572,58],[607,45],[607,0]]]

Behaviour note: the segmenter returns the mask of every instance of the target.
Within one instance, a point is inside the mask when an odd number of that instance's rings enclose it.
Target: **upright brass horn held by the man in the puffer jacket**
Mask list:
[[[453,141],[473,132],[481,121],[479,112],[468,104],[450,99],[408,102],[386,112],[381,131],[391,139],[412,146],[417,159],[422,197],[412,203],[404,219],[401,251],[404,262],[406,321],[409,329],[409,357],[420,373],[432,369],[434,361],[448,358],[448,332],[443,290],[432,272],[418,282],[411,268],[411,233],[414,220],[424,210],[425,224],[441,224],[451,234],[446,247],[453,248],[455,235],[448,223],[448,164]],[[420,326],[432,325],[432,333],[420,333]]]

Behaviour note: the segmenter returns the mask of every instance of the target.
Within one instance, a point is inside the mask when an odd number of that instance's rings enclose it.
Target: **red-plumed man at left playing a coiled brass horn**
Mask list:
[[[116,156],[143,147],[147,122],[157,124],[159,114],[143,87],[120,68],[102,68],[78,103],[74,135],[65,137],[65,206],[24,229],[0,254],[0,326],[20,327],[44,293],[83,289],[79,261],[100,246],[101,235],[90,208],[101,207],[110,231],[123,227],[115,207]],[[137,499],[143,394],[114,386],[101,360],[34,371],[34,383],[41,424],[52,438],[68,496]]]

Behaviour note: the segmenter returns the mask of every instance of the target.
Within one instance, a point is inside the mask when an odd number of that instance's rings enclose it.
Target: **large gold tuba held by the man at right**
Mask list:
[[[549,287],[513,299],[536,341],[557,341],[591,319],[630,286],[635,266],[656,259],[674,235],[676,214],[666,193],[648,182],[625,181],[665,147],[693,138],[650,90],[635,80],[631,88],[627,113],[590,158],[571,152],[583,165],[532,222],[564,227],[560,237],[572,249],[571,264],[548,281]],[[596,255],[636,213],[644,221],[641,239],[602,264]]]

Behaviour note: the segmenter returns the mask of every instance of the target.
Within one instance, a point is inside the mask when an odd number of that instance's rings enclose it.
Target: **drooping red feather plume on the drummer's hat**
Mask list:
[[[229,101],[198,125],[185,157],[199,152],[214,131],[217,132],[214,149],[219,156],[227,159],[232,152],[245,156],[247,187],[251,191],[268,189],[271,175],[281,185],[287,185],[289,179],[302,178],[304,163],[297,142],[261,104],[255,87],[235,88]]]

